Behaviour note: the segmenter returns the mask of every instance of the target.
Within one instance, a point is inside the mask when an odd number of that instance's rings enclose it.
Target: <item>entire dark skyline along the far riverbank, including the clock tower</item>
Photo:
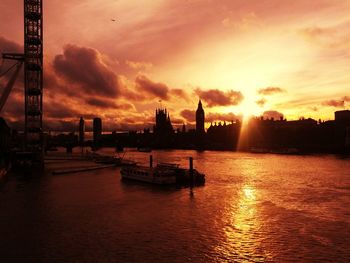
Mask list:
[[[196,125],[177,126],[176,132],[167,109],[156,109],[153,132],[112,132],[102,134],[101,118],[93,119],[93,141],[84,146],[138,147],[153,149],[243,150],[251,152],[295,153],[350,153],[350,111],[335,112],[335,119],[316,121],[311,118],[287,121],[280,118],[254,117],[242,131],[242,122],[214,122],[205,130],[205,113],[199,100]],[[193,128],[192,128],[193,127]],[[13,135],[12,135],[13,136]],[[11,133],[0,118],[0,153],[9,148]],[[19,140],[12,137],[12,143]],[[239,149],[238,149],[239,141]],[[79,137],[74,133],[50,138],[53,146],[76,147],[84,142],[84,119],[79,121]],[[2,154],[4,156],[4,154]],[[5,153],[6,155],[6,153]]]

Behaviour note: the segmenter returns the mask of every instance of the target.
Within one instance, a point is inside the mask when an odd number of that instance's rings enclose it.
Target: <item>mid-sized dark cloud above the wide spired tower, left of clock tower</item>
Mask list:
[[[139,75],[135,80],[136,89],[141,93],[147,93],[148,95],[158,97],[163,100],[169,100],[169,88],[163,83],[156,83],[147,78],[144,75]]]

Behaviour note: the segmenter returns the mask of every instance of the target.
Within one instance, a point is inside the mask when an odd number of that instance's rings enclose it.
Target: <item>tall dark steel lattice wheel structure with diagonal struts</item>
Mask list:
[[[0,113],[24,64],[24,152],[43,164],[43,0],[24,0],[24,54],[4,53],[2,58],[17,62],[0,97]]]

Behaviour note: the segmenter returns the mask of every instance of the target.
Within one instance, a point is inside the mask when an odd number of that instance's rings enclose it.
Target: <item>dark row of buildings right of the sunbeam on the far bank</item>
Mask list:
[[[244,150],[254,152],[349,153],[350,111],[337,111],[329,121],[253,118],[247,140]]]

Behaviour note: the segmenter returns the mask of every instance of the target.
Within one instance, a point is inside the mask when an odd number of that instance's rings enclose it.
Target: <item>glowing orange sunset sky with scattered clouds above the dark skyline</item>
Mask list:
[[[199,98],[207,125],[264,112],[327,120],[350,106],[350,0],[46,0],[44,12],[50,129],[80,116],[150,127],[160,105],[193,124]],[[1,0],[0,50],[22,43],[23,1]],[[23,116],[21,84],[10,122]]]

